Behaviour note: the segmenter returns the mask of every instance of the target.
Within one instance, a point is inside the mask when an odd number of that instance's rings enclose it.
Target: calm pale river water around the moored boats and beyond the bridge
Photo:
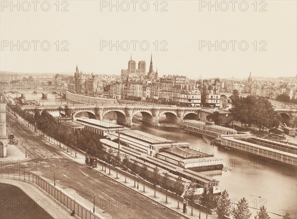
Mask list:
[[[16,96],[16,94],[9,95]],[[48,94],[47,100],[43,100],[39,93],[27,94],[26,98],[35,99],[44,104],[66,103],[65,98],[57,94]],[[72,104],[70,101],[68,103]],[[232,202],[238,203],[241,198],[245,197],[249,203],[252,218],[256,215],[256,209],[262,205],[265,205],[267,211],[270,212],[271,219],[281,219],[282,217],[278,215],[286,213],[289,213],[292,219],[297,218],[296,169],[249,156],[243,152],[209,145],[201,137],[183,130],[146,128],[144,131],[179,142],[188,142],[193,149],[210,152],[215,157],[224,159],[225,165],[231,170],[204,174],[212,175],[213,178],[219,180],[221,191],[226,189]]]

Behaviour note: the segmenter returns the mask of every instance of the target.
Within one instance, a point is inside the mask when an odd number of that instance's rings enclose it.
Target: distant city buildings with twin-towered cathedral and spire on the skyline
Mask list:
[[[69,90],[75,93],[113,99],[125,99],[187,107],[211,107],[229,109],[228,98],[233,90],[240,95],[255,95],[277,99],[285,95],[284,102],[296,103],[297,79],[278,78],[263,80],[253,78],[250,73],[246,80],[236,79],[189,79],[184,75],[159,76],[154,71],[152,55],[147,72],[146,61],[128,61],[128,68],[121,69],[120,75],[84,73],[76,66],[73,76],[66,74],[11,74],[1,72],[1,85],[17,84],[22,81],[42,80],[50,88]],[[282,101],[282,99],[278,99]]]

